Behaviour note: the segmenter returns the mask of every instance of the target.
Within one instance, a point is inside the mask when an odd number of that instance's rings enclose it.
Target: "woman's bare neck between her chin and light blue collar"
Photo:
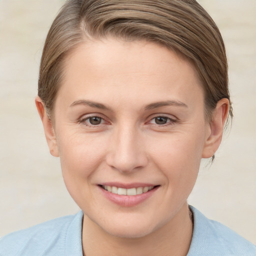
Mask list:
[[[187,203],[165,225],[139,238],[116,237],[102,230],[86,215],[83,218],[83,255],[185,256],[192,238],[193,224]]]

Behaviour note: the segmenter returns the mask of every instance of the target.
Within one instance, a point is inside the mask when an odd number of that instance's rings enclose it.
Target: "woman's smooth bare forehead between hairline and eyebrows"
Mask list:
[[[194,65],[166,47],[148,41],[114,38],[80,44],[65,59],[62,96],[125,98],[159,101],[162,97],[190,100],[201,93]],[[190,92],[189,92],[190,90]],[[179,94],[179,95],[178,95]]]

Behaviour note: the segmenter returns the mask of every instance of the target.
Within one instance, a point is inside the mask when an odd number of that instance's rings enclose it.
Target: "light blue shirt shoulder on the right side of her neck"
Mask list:
[[[223,224],[206,218],[190,206],[194,216],[192,241],[187,256],[255,256],[256,246]]]

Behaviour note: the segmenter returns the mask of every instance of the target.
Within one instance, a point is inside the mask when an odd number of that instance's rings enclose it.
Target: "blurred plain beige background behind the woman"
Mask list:
[[[188,201],[256,243],[256,1],[199,2],[226,43],[235,118]],[[0,0],[0,235],[78,210],[34,106],[43,40],[62,3]]]

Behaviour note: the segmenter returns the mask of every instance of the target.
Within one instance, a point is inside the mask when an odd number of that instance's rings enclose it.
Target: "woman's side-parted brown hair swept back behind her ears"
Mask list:
[[[203,84],[208,119],[218,100],[230,102],[221,34],[195,0],[67,0],[49,29],[41,57],[38,96],[49,115],[67,53],[88,38],[107,36],[160,43],[191,60]]]

